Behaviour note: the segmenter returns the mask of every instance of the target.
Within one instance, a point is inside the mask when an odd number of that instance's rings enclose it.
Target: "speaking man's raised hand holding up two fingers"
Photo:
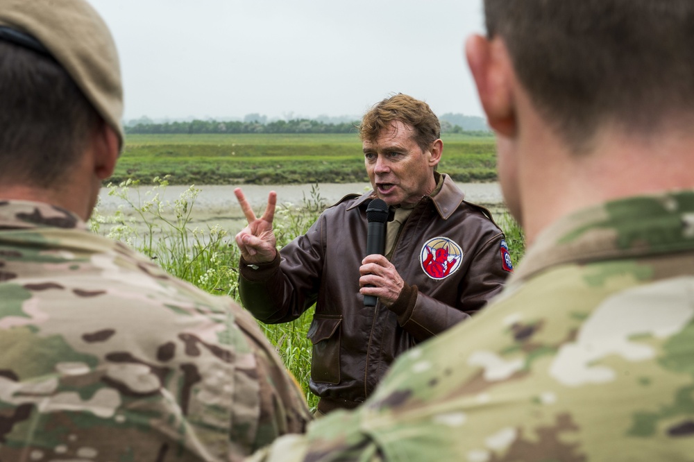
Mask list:
[[[260,218],[255,217],[251,204],[241,188],[234,189],[234,194],[244,211],[248,226],[236,235],[236,243],[241,250],[241,255],[249,263],[269,263],[277,255],[277,240],[272,230],[272,221],[275,216],[277,193],[270,191],[267,198],[265,213]]]

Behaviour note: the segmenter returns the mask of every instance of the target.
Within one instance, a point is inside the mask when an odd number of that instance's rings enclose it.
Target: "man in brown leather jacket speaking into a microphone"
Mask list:
[[[443,142],[429,106],[404,94],[376,104],[359,128],[373,191],[350,195],[276,250],[276,194],[237,234],[240,294],[264,323],[286,323],[316,303],[308,332],[319,413],[366,400],[398,354],[469,318],[512,271],[504,234],[436,171]],[[366,255],[366,207],[391,209],[385,256]],[[370,286],[366,286],[369,284]],[[378,297],[374,307],[364,296]]]

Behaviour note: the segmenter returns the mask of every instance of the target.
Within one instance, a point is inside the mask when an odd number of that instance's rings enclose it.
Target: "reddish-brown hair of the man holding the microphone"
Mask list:
[[[441,137],[439,118],[424,101],[398,93],[373,105],[359,125],[362,140],[373,142],[392,121],[401,121],[414,128],[414,141],[427,151]]]

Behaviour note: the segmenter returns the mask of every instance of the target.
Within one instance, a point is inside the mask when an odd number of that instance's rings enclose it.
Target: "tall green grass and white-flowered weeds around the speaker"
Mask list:
[[[171,202],[162,200],[168,185],[169,178],[155,178],[151,189],[144,194],[137,192],[135,198],[128,191],[139,186],[138,180],[128,179],[119,185],[109,185],[108,194],[120,198],[122,205],[110,216],[100,214],[97,205],[90,219],[90,228],[148,255],[168,273],[208,293],[228,295],[240,303],[239,250],[234,237],[219,226],[193,227],[191,217],[200,189],[191,186]],[[327,205],[317,185],[312,187],[308,197],[304,196],[301,204],[278,205],[274,220],[278,248],[304,234]],[[262,213],[260,210],[257,212]],[[525,251],[523,232],[508,213],[501,216],[498,223],[506,233],[515,265]],[[314,307],[291,323],[258,323],[303,388],[311,409],[318,402],[308,388],[312,345],[306,334],[313,311]]]

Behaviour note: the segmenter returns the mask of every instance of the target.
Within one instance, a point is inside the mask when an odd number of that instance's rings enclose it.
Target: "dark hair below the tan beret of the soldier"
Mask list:
[[[56,61],[3,41],[0,101],[0,181],[6,185],[58,185],[102,120]]]

